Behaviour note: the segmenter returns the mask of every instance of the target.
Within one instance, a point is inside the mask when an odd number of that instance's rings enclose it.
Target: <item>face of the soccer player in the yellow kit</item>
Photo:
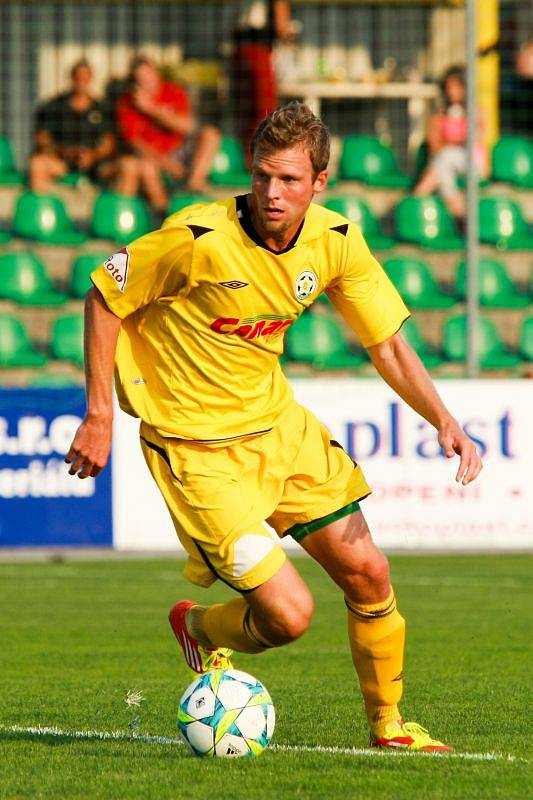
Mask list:
[[[315,177],[309,153],[301,147],[256,154],[252,164],[251,212],[254,226],[265,242],[288,244],[313,196],[325,189],[327,180],[327,170]]]

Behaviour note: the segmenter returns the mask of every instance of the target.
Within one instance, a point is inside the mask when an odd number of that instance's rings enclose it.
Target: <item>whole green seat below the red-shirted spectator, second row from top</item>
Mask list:
[[[140,197],[103,192],[96,198],[91,231],[99,239],[128,244],[153,228],[146,204]]]

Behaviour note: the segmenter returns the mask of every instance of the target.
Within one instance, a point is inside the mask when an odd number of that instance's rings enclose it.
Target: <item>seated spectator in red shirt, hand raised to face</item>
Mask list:
[[[117,190],[134,195],[142,188],[151,205],[164,212],[163,175],[176,180],[187,175],[187,188],[204,192],[220,133],[213,126],[197,126],[185,89],[165,81],[148,58],[135,59],[130,76],[131,89],[116,108],[125,150]]]

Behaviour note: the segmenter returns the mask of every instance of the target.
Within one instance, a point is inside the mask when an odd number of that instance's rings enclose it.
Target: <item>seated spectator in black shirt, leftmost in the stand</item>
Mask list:
[[[67,172],[81,172],[92,180],[113,174],[115,151],[112,120],[91,95],[93,72],[87,61],[70,71],[72,88],[37,110],[36,150],[30,159],[30,186],[47,192]]]

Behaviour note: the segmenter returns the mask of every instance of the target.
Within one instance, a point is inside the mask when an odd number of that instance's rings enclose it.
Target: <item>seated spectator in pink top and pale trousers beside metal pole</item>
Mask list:
[[[450,67],[441,86],[443,108],[431,118],[429,124],[430,161],[414,188],[414,194],[421,196],[438,190],[454,217],[462,220],[465,215],[465,198],[459,189],[457,178],[466,172],[467,119],[463,67]],[[476,160],[480,175],[485,177],[489,170],[489,159],[481,131],[478,132]]]

